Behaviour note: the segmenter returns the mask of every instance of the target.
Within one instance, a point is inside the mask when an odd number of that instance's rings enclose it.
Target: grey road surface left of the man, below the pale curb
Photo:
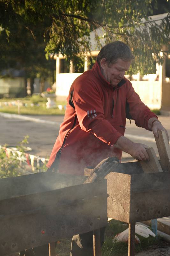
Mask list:
[[[29,135],[28,146],[33,149],[30,153],[46,158],[59,132],[59,125],[56,126],[0,116],[0,145],[16,146],[25,135]]]

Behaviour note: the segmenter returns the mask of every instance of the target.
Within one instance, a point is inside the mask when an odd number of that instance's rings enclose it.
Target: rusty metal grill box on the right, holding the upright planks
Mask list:
[[[89,176],[92,168],[85,169]],[[170,216],[170,172],[144,173],[140,162],[119,164],[107,176],[107,216],[129,223],[129,256],[135,223]]]

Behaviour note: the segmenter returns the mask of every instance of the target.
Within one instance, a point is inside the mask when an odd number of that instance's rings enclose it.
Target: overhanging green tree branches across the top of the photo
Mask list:
[[[24,45],[31,36],[29,44],[41,44],[46,57],[62,53],[67,60],[76,60],[78,53],[91,49],[90,31],[101,27],[106,43],[121,40],[130,46],[135,56],[133,73],[137,69],[150,73],[155,61],[162,62],[159,52],[163,45],[168,51],[170,41],[170,15],[159,23],[148,18],[157,6],[156,0],[1,0],[0,38],[3,34],[4,44],[10,44],[18,36],[18,44]],[[96,35],[100,49],[99,39]]]

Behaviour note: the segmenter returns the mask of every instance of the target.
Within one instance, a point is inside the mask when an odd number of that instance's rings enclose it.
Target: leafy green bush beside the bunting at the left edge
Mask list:
[[[28,135],[24,137],[24,139],[19,142],[17,149],[18,152],[12,153],[11,151],[7,151],[7,145],[4,145],[4,148],[0,148],[0,178],[14,177],[21,175],[22,162],[20,158],[23,156],[23,153],[26,150],[25,145],[28,144]]]

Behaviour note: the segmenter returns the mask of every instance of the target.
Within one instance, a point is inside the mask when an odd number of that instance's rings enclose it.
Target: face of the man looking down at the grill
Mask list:
[[[124,77],[125,71],[129,69],[131,62],[131,60],[124,61],[122,59],[118,59],[117,62],[111,64],[109,68],[106,59],[102,59],[100,61],[101,72],[107,82],[115,87]]]

